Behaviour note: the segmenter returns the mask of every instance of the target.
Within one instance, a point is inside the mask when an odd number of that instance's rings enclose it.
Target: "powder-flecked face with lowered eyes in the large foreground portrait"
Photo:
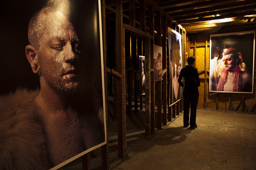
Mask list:
[[[41,82],[47,82],[59,92],[72,93],[79,86],[73,64],[78,57],[78,37],[60,11],[49,12],[45,21],[37,53],[41,79],[44,79]]]

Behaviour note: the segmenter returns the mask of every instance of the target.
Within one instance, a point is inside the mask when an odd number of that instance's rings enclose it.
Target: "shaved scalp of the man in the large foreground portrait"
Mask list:
[[[39,49],[40,39],[46,28],[46,19],[50,12],[60,12],[69,18],[71,4],[68,0],[49,0],[47,4],[37,11],[28,24],[28,41],[36,50]]]

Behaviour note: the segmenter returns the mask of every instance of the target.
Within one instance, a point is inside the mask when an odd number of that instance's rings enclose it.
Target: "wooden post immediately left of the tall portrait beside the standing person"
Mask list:
[[[166,16],[163,16],[163,39],[162,39],[162,47],[163,47],[163,69],[167,69],[167,54],[166,54],[166,32],[167,32],[167,25],[166,25]],[[163,125],[167,124],[167,70],[163,75]]]

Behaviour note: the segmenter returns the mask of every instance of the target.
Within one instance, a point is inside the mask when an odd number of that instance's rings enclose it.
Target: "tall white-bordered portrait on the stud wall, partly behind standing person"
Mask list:
[[[182,36],[168,27],[169,44],[169,106],[181,99],[181,87],[178,77],[182,68]]]

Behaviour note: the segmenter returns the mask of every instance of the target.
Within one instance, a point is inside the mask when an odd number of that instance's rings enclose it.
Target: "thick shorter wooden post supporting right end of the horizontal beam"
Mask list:
[[[150,39],[145,39],[145,135],[149,136],[151,132],[151,47],[150,47]]]

